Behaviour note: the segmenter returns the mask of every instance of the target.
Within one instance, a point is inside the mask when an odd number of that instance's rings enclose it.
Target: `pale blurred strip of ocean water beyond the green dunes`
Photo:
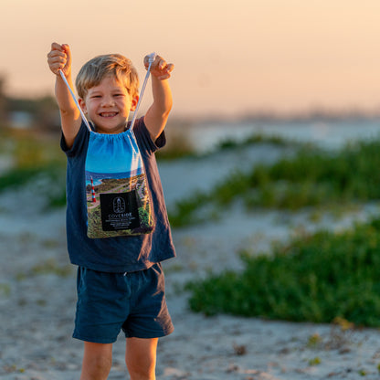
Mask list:
[[[349,121],[210,122],[187,129],[198,153],[212,151],[225,140],[244,141],[252,134],[312,142],[324,149],[339,149],[348,142],[380,139],[380,119]]]

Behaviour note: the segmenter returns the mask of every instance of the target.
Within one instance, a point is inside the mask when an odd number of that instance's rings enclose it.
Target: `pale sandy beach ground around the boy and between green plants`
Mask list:
[[[195,189],[209,188],[237,165],[270,163],[289,153],[288,148],[260,145],[202,161],[161,162],[168,207]],[[76,269],[66,251],[65,210],[47,211],[38,186],[0,195],[0,378],[74,380],[82,354],[82,343],[71,338]],[[217,221],[174,229],[178,257],[164,262],[164,270],[175,331],[160,340],[157,379],[378,379],[380,332],[375,329],[206,317],[188,310],[183,290],[187,280],[210,269],[240,269],[239,248],[259,253],[301,229],[339,230],[378,211],[376,204],[365,205],[311,222],[308,211],[248,214],[236,205]],[[120,335],[111,380],[129,378],[124,344]]]

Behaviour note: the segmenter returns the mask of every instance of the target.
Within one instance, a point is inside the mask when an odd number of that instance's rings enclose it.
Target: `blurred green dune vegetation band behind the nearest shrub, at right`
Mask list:
[[[303,149],[276,164],[234,172],[208,192],[180,200],[170,210],[174,227],[215,217],[242,201],[247,210],[353,205],[380,198],[380,141],[357,142],[338,152]],[[202,212],[207,208],[208,213]]]

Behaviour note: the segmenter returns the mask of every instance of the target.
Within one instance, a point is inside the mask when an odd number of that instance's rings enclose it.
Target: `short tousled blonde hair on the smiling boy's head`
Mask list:
[[[139,77],[131,59],[121,54],[106,54],[90,59],[79,70],[75,80],[79,98],[84,99],[90,88],[100,85],[108,76],[121,82],[132,97],[138,95]]]

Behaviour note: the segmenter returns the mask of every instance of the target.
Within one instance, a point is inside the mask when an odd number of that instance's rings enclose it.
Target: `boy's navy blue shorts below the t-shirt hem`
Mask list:
[[[160,263],[125,274],[79,267],[77,290],[74,338],[114,343],[121,330],[127,338],[159,338],[174,330]]]

